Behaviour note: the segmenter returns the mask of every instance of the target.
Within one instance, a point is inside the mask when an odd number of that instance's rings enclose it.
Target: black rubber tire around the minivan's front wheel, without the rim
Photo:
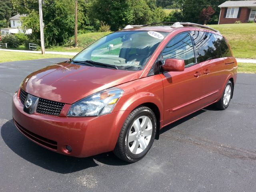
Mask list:
[[[130,149],[129,149],[129,144],[128,144],[128,132],[131,131],[132,129],[132,125],[135,122],[135,120],[137,120],[138,118],[140,118],[141,116],[147,116],[148,118],[150,118],[151,122],[152,122],[152,134],[151,134],[151,138],[150,141],[147,145],[147,147],[139,154],[133,154]],[[114,149],[114,154],[120,158],[121,160],[124,160],[126,162],[137,162],[138,160],[142,159],[150,150],[153,142],[154,142],[154,138],[156,136],[156,116],[154,114],[154,112],[146,107],[146,106],[140,106],[138,108],[136,108],[135,110],[133,110],[128,117],[126,118],[122,129],[120,131],[117,143],[116,143],[116,147]]]

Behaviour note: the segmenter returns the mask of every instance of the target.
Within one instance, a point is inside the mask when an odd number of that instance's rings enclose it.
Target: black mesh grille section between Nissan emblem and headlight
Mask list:
[[[65,103],[39,98],[36,112],[48,115],[60,115]]]

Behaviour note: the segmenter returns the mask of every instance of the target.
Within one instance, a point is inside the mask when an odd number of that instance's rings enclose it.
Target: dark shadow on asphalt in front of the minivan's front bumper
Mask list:
[[[6,145],[18,156],[44,169],[62,174],[72,173],[86,168],[98,166],[97,161],[103,164],[120,166],[128,163],[119,160],[112,152],[99,154],[88,158],[65,156],[38,146],[23,136],[12,120],[1,128],[1,136]],[[96,162],[95,162],[96,160]]]

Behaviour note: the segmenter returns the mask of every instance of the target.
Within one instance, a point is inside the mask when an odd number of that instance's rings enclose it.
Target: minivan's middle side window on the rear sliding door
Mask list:
[[[197,62],[221,58],[221,50],[216,35],[210,32],[190,31],[195,41]]]

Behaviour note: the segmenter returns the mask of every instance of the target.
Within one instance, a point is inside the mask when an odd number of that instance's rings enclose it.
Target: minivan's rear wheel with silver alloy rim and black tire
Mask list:
[[[233,90],[233,86],[232,86],[232,82],[229,80],[226,84],[226,87],[224,89],[224,92],[222,94],[222,97],[220,98],[220,100],[218,102],[216,102],[215,106],[220,109],[220,110],[224,110],[226,108],[228,108],[229,104],[230,104],[230,100],[231,100],[231,95],[232,95],[232,90]]]

